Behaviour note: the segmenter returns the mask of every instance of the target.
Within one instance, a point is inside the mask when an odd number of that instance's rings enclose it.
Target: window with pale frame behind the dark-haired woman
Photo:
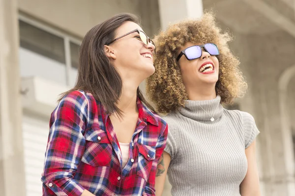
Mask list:
[[[21,76],[38,76],[73,87],[80,40],[24,16],[20,16],[19,30]]]

